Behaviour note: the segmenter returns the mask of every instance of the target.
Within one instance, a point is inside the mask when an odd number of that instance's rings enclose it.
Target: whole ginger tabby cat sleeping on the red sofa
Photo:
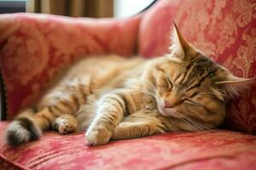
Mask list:
[[[186,42],[174,26],[172,53],[156,59],[80,60],[33,108],[10,123],[10,145],[87,129],[88,144],[218,127],[226,103],[255,79],[234,77]]]

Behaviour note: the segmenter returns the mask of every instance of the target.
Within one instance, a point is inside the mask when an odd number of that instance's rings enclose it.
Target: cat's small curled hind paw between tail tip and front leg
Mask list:
[[[77,130],[78,122],[69,115],[62,115],[55,119],[54,129],[61,134],[74,133]]]

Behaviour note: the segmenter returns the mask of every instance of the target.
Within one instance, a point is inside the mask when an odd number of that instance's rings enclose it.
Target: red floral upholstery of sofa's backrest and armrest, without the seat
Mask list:
[[[90,54],[170,53],[172,20],[189,42],[238,77],[256,77],[253,0],[160,0],[125,20],[0,15],[0,66],[9,117],[31,105],[65,65]],[[39,64],[40,63],[40,64]],[[224,127],[256,134],[256,86],[230,102]]]

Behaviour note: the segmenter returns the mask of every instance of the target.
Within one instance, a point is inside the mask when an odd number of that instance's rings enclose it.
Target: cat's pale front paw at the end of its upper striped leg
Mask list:
[[[90,145],[108,144],[111,136],[112,133],[106,127],[102,126],[97,126],[93,129],[88,129],[88,131],[85,133],[87,142]]]

